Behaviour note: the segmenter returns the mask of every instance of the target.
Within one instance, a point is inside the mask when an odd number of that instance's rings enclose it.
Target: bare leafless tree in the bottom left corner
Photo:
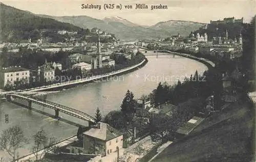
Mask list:
[[[8,152],[13,161],[17,157],[18,148],[22,148],[27,142],[25,134],[20,126],[11,126],[5,129],[0,137],[0,149]]]

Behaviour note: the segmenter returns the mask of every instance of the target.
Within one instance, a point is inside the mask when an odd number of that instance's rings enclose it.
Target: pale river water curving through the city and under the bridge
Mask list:
[[[195,60],[179,56],[147,56],[148,63],[131,73],[113,77],[112,79],[101,80],[96,83],[79,85],[72,89],[63,90],[57,93],[47,94],[47,100],[70,106],[94,116],[95,110],[99,107],[104,116],[111,110],[120,109],[121,101],[127,90],[134,93],[135,98],[142,94],[148,94],[155,89],[159,82],[166,81],[173,85],[178,79],[183,80],[184,76],[189,77],[198,70],[202,74],[207,67]],[[54,111],[32,103],[32,107],[54,115]],[[5,123],[5,115],[8,114],[9,123]],[[87,122],[60,113],[61,118],[87,125]],[[47,131],[50,136],[57,140],[68,138],[77,132],[77,127],[51,117],[29,111],[21,106],[0,100],[0,132],[11,125],[20,125],[28,139],[32,138],[40,128]],[[28,154],[32,147],[32,140],[19,150],[20,155]],[[7,153],[0,151],[0,157],[7,158]]]

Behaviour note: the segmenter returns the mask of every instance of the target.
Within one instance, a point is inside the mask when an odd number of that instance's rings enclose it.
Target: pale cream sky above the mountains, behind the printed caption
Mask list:
[[[119,16],[140,25],[154,25],[159,21],[186,20],[209,23],[225,17],[235,17],[249,22],[256,14],[256,0],[1,0],[2,3],[27,10],[34,14],[52,16],[86,15],[97,19]],[[101,5],[98,9],[81,9],[82,4]],[[122,5],[122,9],[104,10],[104,4]],[[136,10],[136,4],[145,4],[148,9]],[[166,5],[167,9],[151,10],[152,5]],[[125,9],[132,5],[133,9]]]

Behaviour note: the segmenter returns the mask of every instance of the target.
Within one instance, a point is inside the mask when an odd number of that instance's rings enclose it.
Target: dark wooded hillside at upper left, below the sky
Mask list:
[[[79,27],[56,21],[51,18],[36,16],[28,11],[19,10],[3,3],[0,4],[0,40],[8,42],[19,42],[21,40],[32,40],[40,38],[42,30],[48,31],[56,41],[61,38],[60,35],[51,32],[57,30],[78,31]],[[50,34],[49,34],[50,32]]]

